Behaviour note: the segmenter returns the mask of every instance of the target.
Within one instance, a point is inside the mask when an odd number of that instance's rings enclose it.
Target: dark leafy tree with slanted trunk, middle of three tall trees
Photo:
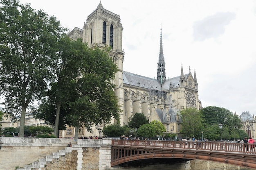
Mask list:
[[[50,82],[51,88],[46,92],[47,95],[36,113],[36,118],[45,119],[54,126],[56,136],[59,130],[66,129],[65,124],[70,124],[65,119],[67,110],[70,109],[66,103],[75,93],[73,82],[79,77],[79,70],[82,68],[81,58],[77,55],[77,41],[81,39],[72,41],[67,35],[63,35],[58,41],[56,62],[51,67],[55,78]]]

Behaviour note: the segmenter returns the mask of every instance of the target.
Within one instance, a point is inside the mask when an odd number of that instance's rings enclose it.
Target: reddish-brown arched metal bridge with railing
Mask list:
[[[252,144],[255,147],[256,144]],[[248,147],[248,150],[246,149]],[[232,142],[193,142],[161,140],[112,140],[111,166],[122,166],[153,159],[171,162],[200,159],[242,166],[256,170],[256,152],[251,144]]]

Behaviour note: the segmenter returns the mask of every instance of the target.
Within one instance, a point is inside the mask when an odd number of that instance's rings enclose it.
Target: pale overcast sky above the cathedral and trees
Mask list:
[[[20,0],[83,28],[99,0]],[[166,77],[196,72],[203,107],[256,116],[255,0],[101,0],[123,25],[124,71],[154,78],[162,23]]]

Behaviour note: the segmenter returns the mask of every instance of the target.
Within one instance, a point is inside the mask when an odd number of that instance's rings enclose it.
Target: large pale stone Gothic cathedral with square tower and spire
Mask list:
[[[180,76],[166,78],[162,43],[162,28],[160,32],[160,51],[157,64],[157,78],[148,78],[123,70],[125,53],[122,50],[122,31],[120,16],[103,8],[101,2],[86,20],[81,28],[74,28],[69,36],[72,39],[82,38],[89,47],[110,46],[109,55],[119,68],[114,83],[115,94],[119,97],[121,106],[121,126],[128,124],[135,113],[144,113],[149,122],[161,121],[166,127],[165,133],[176,134],[182,137],[180,127],[182,120],[180,110],[186,107],[200,109],[201,101],[198,98],[198,81],[195,71],[190,67],[186,74],[181,63]],[[129,56],[127,56],[129,57]],[[153,57],[153,56],[152,56]],[[146,67],[146,64],[145,64]],[[145,68],[146,69],[146,68]],[[94,133],[88,133],[86,129],[79,135],[99,136],[95,129]]]

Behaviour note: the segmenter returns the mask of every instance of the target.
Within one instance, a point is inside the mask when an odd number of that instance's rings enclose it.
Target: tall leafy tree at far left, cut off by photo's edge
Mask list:
[[[55,17],[18,0],[1,0],[0,11],[0,92],[6,112],[21,113],[19,137],[24,137],[26,110],[47,89],[64,29]]]

